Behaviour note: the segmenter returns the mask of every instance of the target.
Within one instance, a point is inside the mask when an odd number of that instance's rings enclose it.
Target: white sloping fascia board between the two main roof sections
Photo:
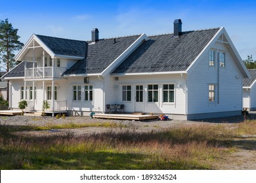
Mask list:
[[[148,37],[145,33],[143,33],[133,44],[131,44],[121,55],[119,55],[108,67],[102,71],[101,75],[106,76],[110,73],[117,65],[119,65],[129,54],[131,54],[140,44],[142,41],[148,41]]]

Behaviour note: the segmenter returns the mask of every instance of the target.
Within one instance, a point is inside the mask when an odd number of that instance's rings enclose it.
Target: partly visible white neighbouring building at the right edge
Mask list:
[[[243,107],[256,110],[256,69],[248,69],[251,78],[243,80]]]

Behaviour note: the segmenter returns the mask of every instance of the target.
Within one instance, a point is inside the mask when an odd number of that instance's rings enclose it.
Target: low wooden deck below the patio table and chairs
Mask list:
[[[93,118],[116,119],[116,120],[151,120],[151,119],[157,119],[158,115],[93,114]]]

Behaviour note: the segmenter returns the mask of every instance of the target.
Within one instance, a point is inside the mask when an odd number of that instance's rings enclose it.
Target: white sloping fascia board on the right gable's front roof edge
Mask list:
[[[192,61],[192,63],[190,64],[190,66],[188,67],[188,69],[186,69],[187,73],[191,73],[193,68],[196,67],[196,62],[198,60],[200,60],[200,58],[202,58],[204,52],[208,49],[211,48],[211,46],[215,43],[215,41],[217,41],[217,39],[221,36],[221,34],[223,33],[223,29],[224,27],[221,27],[219,29],[219,31],[217,31],[217,33],[215,34],[215,36],[206,44],[206,46],[203,48],[203,50],[200,52],[200,54],[198,54],[198,56],[194,59],[194,61]]]

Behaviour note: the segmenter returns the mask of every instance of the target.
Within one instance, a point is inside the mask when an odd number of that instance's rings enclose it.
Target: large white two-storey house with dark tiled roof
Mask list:
[[[125,112],[196,119],[241,114],[242,81],[249,73],[224,27],[92,41],[32,35],[3,76],[10,81],[10,108],[68,110],[87,115],[123,104]]]

